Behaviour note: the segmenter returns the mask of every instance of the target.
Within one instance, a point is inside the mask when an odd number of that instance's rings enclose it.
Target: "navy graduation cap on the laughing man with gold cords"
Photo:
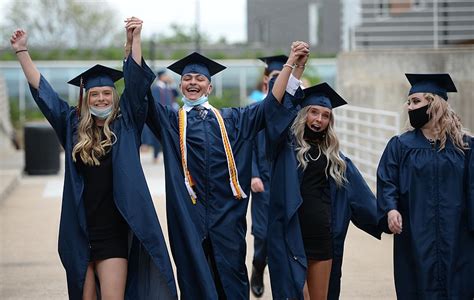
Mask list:
[[[202,74],[211,80],[211,76],[224,70],[226,67],[197,52],[193,52],[168,66],[168,69],[183,76],[188,73]]]

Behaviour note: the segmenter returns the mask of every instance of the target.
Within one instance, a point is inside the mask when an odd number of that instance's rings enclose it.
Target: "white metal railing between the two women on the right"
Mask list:
[[[352,105],[340,107],[334,113],[342,152],[375,191],[377,165],[388,140],[400,131],[400,115]]]

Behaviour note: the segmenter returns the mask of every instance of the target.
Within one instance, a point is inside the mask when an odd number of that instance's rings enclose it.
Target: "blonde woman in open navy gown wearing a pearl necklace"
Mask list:
[[[284,96],[286,113],[266,111],[272,149],[268,264],[274,299],[338,299],[349,222],[380,238],[374,194],[339,151],[332,110],[346,102],[326,83]],[[284,84],[284,83],[283,83]],[[278,86],[281,86],[279,84]],[[289,99],[291,98],[291,99]],[[292,100],[293,105],[287,102]],[[268,106],[271,108],[271,106]]]

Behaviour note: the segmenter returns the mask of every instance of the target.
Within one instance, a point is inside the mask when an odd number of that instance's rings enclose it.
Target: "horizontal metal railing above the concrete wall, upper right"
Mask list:
[[[472,0],[361,0],[351,49],[443,48],[474,44]]]

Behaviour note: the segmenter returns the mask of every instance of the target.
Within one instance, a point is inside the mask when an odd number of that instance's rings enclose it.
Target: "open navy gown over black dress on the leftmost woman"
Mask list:
[[[140,164],[139,146],[146,116],[143,99],[153,81],[130,57],[124,63],[125,90],[120,115],[111,129],[115,204],[130,227],[126,299],[175,299],[177,291],[160,223]],[[58,250],[66,269],[69,299],[82,299],[89,263],[89,242],[83,204],[84,179],[72,160],[79,120],[75,107],[61,100],[41,76],[38,89],[30,87],[38,107],[52,125],[65,152],[64,190]]]

